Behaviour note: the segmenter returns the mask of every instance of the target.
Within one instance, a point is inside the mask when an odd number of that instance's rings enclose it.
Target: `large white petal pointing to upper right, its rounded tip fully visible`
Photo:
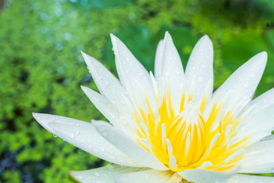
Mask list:
[[[238,68],[225,83],[214,93],[214,97],[227,97],[226,106],[233,103],[242,105],[251,101],[253,94],[260,82],[266,65],[267,54],[265,51],[253,56]],[[229,96],[227,96],[229,93]]]

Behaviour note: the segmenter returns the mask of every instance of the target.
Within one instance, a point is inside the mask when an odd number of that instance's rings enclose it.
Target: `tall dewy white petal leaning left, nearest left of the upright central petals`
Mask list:
[[[135,107],[139,108],[142,102],[148,98],[152,108],[155,109],[156,97],[149,73],[119,38],[112,34],[110,36],[115,54],[116,69],[130,99],[136,105]]]

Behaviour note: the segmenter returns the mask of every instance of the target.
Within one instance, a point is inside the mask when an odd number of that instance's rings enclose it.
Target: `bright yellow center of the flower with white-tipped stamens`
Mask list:
[[[214,103],[205,116],[207,98],[200,106],[192,96],[182,95],[179,114],[175,115],[168,91],[155,112],[149,101],[149,112],[142,108],[134,112],[136,141],[171,171],[211,169],[225,171],[236,167],[242,159],[247,138],[236,138],[235,119],[230,110],[221,115],[222,105]]]

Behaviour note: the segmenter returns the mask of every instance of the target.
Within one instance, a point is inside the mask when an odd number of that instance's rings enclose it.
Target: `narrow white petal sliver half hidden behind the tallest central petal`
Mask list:
[[[155,65],[154,65],[155,79],[157,81],[160,80],[160,77],[162,75],[162,64],[164,61],[163,55],[164,55],[164,40],[160,40],[156,50]]]

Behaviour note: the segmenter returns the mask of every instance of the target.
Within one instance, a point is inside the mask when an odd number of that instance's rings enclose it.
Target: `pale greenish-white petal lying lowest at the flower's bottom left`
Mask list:
[[[97,169],[70,171],[69,175],[71,175],[73,179],[82,183],[114,183],[115,178],[123,173],[144,171],[146,169],[147,168],[122,167],[118,164],[108,164],[105,167],[100,167]]]

